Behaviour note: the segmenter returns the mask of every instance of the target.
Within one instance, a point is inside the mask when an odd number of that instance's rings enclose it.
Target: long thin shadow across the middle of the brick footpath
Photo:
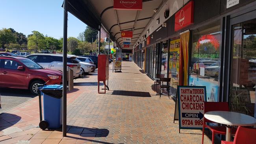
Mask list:
[[[112,95],[151,97],[149,92],[135,92],[135,91],[126,91],[126,90],[114,90],[112,92]]]

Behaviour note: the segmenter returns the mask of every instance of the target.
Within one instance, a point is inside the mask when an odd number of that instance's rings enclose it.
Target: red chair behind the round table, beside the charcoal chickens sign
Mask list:
[[[204,113],[208,111],[229,111],[228,103],[227,102],[204,102]],[[225,126],[209,126],[206,122],[212,122],[206,118],[203,119],[203,129],[202,129],[202,144],[204,144],[204,129],[208,128],[212,132],[211,143],[214,144],[214,135],[226,135],[226,127]],[[235,135],[236,129],[232,128],[231,134]]]

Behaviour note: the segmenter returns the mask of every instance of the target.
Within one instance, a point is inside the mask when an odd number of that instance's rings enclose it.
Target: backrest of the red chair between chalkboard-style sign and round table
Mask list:
[[[229,111],[228,102],[204,102],[204,113],[208,111]],[[204,118],[204,122],[212,122]]]

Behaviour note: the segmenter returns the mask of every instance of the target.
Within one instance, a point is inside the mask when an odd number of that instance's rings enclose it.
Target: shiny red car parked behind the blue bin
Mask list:
[[[61,84],[62,72],[43,68],[26,57],[0,56],[0,87],[29,89],[37,94],[37,85]]]

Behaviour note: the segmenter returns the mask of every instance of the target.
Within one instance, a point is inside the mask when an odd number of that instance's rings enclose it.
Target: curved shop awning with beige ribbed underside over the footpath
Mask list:
[[[121,31],[133,31],[133,45],[152,20],[163,0],[143,0],[142,10],[115,10],[113,0],[69,0],[68,11],[82,22],[98,30],[101,24],[110,33],[110,38],[123,48]]]

